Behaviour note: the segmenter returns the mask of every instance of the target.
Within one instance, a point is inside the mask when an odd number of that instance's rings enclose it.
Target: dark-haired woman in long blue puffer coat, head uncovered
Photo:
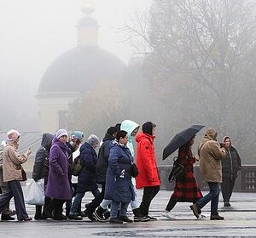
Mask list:
[[[127,132],[120,130],[116,139],[118,144],[110,149],[108,158],[108,170],[106,175],[106,190],[104,198],[112,200],[110,211],[110,223],[132,223],[127,217],[127,207],[134,200],[134,189],[131,183],[131,167],[133,157],[126,146]],[[120,206],[120,212],[118,208]]]

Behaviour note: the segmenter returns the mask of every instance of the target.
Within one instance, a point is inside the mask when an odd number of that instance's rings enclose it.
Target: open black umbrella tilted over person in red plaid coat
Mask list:
[[[201,130],[202,127],[205,126],[194,125],[186,130],[183,130],[180,133],[177,133],[164,149],[163,160],[165,160],[168,156],[172,155],[175,150],[186,144],[189,139],[191,139],[193,136],[195,136],[196,133]]]

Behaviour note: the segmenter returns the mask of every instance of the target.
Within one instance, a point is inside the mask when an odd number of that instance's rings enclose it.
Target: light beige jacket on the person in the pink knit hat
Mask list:
[[[7,144],[3,150],[3,181],[22,180],[21,164],[27,161],[26,155],[17,152],[17,144]]]

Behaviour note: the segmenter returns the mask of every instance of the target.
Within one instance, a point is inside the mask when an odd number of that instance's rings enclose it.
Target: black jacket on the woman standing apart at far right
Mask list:
[[[231,146],[222,160],[222,178],[236,178],[239,169],[241,169],[241,158]]]

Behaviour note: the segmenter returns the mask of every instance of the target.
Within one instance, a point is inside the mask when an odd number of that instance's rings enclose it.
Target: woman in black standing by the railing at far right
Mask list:
[[[224,207],[230,207],[230,197],[232,195],[234,185],[237,178],[238,170],[241,170],[241,158],[236,148],[232,146],[229,136],[225,136],[222,147],[227,150],[226,156],[222,160],[222,179],[221,191],[224,200]]]

